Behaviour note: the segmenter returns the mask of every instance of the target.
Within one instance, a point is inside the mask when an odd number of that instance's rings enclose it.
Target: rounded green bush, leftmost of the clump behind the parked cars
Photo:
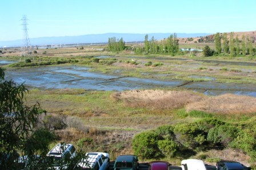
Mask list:
[[[142,157],[142,159],[158,157],[161,154],[158,149],[158,139],[158,134],[153,131],[135,135],[132,144],[134,154]]]

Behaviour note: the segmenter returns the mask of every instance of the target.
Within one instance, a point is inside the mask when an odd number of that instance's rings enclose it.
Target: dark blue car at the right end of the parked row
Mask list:
[[[245,165],[239,163],[238,161],[230,161],[230,160],[221,160],[216,164],[217,170],[240,170],[240,169],[250,169]]]

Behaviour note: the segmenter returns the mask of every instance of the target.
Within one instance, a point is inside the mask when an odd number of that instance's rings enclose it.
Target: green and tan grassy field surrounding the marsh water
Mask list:
[[[183,43],[183,48],[202,48],[205,44]],[[213,47],[213,44],[210,44]],[[201,53],[183,53],[178,56],[136,56],[131,51],[112,53],[98,51],[105,46],[34,49],[35,61],[51,65],[83,65],[92,72],[120,76],[156,78],[160,80],[217,81],[237,84],[256,83],[256,57],[203,57]],[[18,49],[7,49],[4,60],[19,60]],[[45,54],[43,54],[45,53]],[[101,58],[98,62],[93,59]],[[32,59],[32,58],[31,58]],[[58,61],[67,62],[58,62]],[[135,61],[135,62],[134,62]],[[218,62],[217,62],[218,61]],[[146,63],[157,63],[155,67]],[[239,63],[245,63],[240,65]],[[162,64],[160,64],[162,63]],[[250,65],[246,65],[250,63]],[[251,65],[255,63],[255,65]],[[17,69],[16,67],[6,69]],[[131,140],[135,134],[163,125],[181,125],[203,118],[218,118],[229,123],[250,122],[256,118],[255,98],[235,95],[207,97],[186,89],[131,90],[125,92],[90,91],[85,89],[42,90],[31,88],[27,105],[39,102],[47,115],[42,115],[44,126],[55,131],[56,142],[78,145],[90,138],[93,144],[85,150],[107,151],[114,159],[119,154],[133,154]],[[197,111],[194,111],[197,110]],[[216,156],[218,152],[218,156]],[[204,156],[207,155],[207,156]],[[230,159],[249,164],[250,157],[239,150],[207,150],[192,157],[214,164],[217,159]],[[207,157],[207,160],[206,160]],[[164,158],[180,163],[182,157]]]

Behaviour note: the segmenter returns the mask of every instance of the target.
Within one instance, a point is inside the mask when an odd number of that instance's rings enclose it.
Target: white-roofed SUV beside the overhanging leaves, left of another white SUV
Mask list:
[[[70,169],[74,167],[75,163],[71,160],[76,156],[76,150],[73,144],[57,144],[51,149],[46,156],[49,156],[51,167],[54,169]]]

